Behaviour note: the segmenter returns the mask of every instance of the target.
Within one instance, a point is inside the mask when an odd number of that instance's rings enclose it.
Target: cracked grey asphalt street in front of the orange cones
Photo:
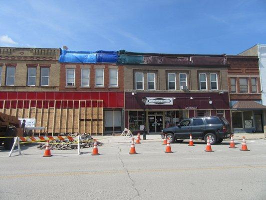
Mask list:
[[[11,157],[0,147],[0,199],[266,199],[266,140],[247,140],[251,151],[229,142],[135,144],[130,140],[92,148],[53,150],[42,157],[34,145]]]

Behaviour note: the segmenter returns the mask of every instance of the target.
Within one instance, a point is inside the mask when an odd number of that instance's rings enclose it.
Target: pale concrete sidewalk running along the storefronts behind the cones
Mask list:
[[[264,133],[235,133],[234,139],[241,140],[242,137],[245,136],[246,139],[266,139]],[[103,136],[93,136],[94,139],[97,139],[103,143],[128,143],[131,141],[131,137],[129,136],[121,136],[121,135],[103,135]],[[137,138],[136,135],[134,135]],[[142,135],[141,135],[142,138]],[[230,139],[226,139],[230,140]],[[146,140],[141,140],[140,142],[163,142],[161,135],[159,134],[147,134]]]

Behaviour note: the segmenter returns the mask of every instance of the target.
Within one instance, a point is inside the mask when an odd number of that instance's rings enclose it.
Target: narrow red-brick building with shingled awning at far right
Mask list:
[[[228,83],[234,132],[263,131],[264,109],[258,56],[228,55]]]

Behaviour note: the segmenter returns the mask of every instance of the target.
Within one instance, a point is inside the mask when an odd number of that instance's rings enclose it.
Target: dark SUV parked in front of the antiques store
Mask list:
[[[209,136],[211,144],[221,143],[224,138],[230,138],[231,128],[228,120],[221,116],[192,117],[182,120],[177,126],[164,128],[161,137],[166,134],[170,143],[182,142],[193,138],[204,139],[207,143]]]

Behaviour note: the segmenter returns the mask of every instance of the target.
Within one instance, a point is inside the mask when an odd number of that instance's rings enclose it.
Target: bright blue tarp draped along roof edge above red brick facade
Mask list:
[[[59,62],[74,63],[116,63],[118,51],[97,50],[97,51],[73,51],[60,48]]]

